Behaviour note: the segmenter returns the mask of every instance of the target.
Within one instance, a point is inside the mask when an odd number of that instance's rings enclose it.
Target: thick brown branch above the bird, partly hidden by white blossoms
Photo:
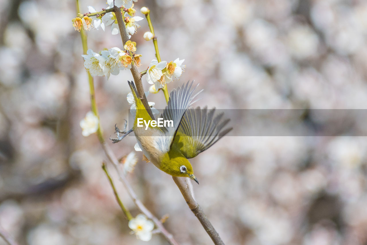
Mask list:
[[[125,21],[124,21],[122,15],[121,15],[121,10],[120,10],[119,7],[114,6],[113,7],[113,12],[116,15],[117,24],[119,25],[121,40],[123,42],[123,45],[125,45],[125,43],[129,40],[127,38],[127,33],[126,33],[126,28],[125,28]],[[152,110],[150,110],[148,100],[146,99],[146,96],[145,96],[143,83],[141,82],[141,77],[143,75],[138,71],[138,69],[136,68],[135,65],[131,65],[130,71],[131,71],[132,77],[134,78],[135,86],[137,87],[137,90],[138,90],[138,96],[142,100],[143,105],[144,105],[145,109],[148,111],[150,117],[152,117],[154,119]]]

